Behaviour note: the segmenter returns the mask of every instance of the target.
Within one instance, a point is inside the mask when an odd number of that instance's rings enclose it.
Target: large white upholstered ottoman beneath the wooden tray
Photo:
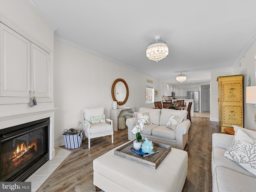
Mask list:
[[[93,184],[104,192],[181,192],[188,174],[188,153],[172,148],[156,168],[114,155],[114,149],[93,161]]]

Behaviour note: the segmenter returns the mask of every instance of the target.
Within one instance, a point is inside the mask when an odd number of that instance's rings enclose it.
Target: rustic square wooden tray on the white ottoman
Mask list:
[[[154,144],[154,148],[158,149],[159,152],[143,158],[142,156],[131,150],[131,148],[133,147],[133,141],[134,140],[131,140],[125,145],[114,150],[114,154],[116,156],[131,160],[146,167],[156,169],[164,160],[164,158],[168,155],[168,153],[172,150],[172,147],[170,145],[152,142]]]

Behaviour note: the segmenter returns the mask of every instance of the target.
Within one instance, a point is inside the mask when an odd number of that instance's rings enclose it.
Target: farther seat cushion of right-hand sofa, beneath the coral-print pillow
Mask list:
[[[240,172],[244,175],[254,177],[253,174],[242,168],[242,166],[238,165],[236,162],[226,158],[224,156],[224,153],[226,152],[226,149],[214,147],[212,153],[212,169],[214,170],[217,166],[226,167],[228,169],[234,170],[236,172]]]

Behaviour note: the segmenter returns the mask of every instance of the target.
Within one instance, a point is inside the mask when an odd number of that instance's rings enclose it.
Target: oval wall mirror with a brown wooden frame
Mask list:
[[[128,85],[123,79],[116,79],[112,85],[112,98],[118,105],[126,103],[129,96]]]

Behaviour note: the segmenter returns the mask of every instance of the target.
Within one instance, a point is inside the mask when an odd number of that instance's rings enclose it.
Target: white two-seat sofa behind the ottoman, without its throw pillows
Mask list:
[[[142,139],[147,138],[153,142],[170,145],[174,148],[183,150],[188,141],[188,130],[191,122],[187,119],[188,112],[186,110],[173,110],[173,109],[154,109],[154,108],[140,108],[139,112],[149,111],[149,116],[152,124],[145,124]],[[182,116],[183,121],[177,126],[176,130],[171,130],[165,125],[170,116],[176,114]],[[128,139],[135,139],[135,134],[132,134],[132,128],[136,125],[136,119],[128,118],[126,120],[128,126]]]

